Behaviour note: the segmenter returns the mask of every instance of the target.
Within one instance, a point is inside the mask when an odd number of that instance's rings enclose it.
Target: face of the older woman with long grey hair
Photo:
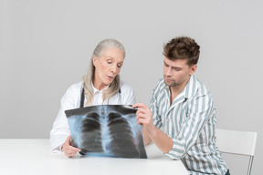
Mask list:
[[[100,57],[93,56],[95,77],[93,85],[97,89],[106,88],[120,73],[123,65],[123,53],[119,48],[106,48]]]

